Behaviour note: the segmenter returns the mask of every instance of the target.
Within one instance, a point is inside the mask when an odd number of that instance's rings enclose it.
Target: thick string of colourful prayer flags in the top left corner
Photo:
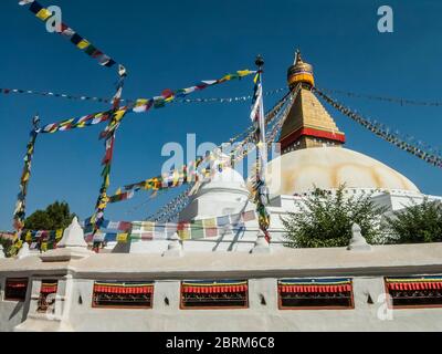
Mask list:
[[[40,2],[35,0],[22,0],[19,2],[20,6],[29,6],[29,10],[35,14],[38,19],[43,22],[49,21],[54,14],[49,9],[44,8]],[[86,55],[95,59],[99,65],[112,67],[116,64],[116,61],[105,54],[103,51],[98,50],[88,40],[80,35],[76,31],[70,28],[65,23],[61,23],[55,32],[63,35],[65,39],[70,40],[78,50],[84,52]]]

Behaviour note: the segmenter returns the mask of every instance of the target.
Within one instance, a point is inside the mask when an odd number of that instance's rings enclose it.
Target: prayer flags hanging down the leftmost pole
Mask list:
[[[21,231],[24,227],[25,205],[28,195],[28,184],[31,177],[32,157],[34,155],[35,139],[38,136],[40,118],[35,115],[32,119],[33,129],[30,133],[30,138],[27,146],[27,154],[24,156],[24,166],[20,179],[20,191],[17,196],[15,209],[13,212],[13,228]]]

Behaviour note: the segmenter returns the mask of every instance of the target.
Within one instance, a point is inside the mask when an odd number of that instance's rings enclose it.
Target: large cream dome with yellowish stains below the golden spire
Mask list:
[[[266,183],[272,196],[302,195],[313,189],[403,190],[418,187],[397,170],[344,147],[313,147],[286,153],[269,163]]]

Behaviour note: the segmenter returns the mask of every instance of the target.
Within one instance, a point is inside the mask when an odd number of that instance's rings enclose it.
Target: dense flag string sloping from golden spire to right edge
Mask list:
[[[348,116],[352,121],[359,123],[361,126],[369,129],[375,135],[381,137],[382,139],[387,140],[388,143],[399,147],[400,149],[402,149],[411,155],[414,155],[415,157],[419,157],[420,159],[422,159],[435,167],[442,167],[442,156],[439,155],[438,153],[435,153],[435,149],[433,149],[433,148],[430,148],[430,150],[428,150],[425,148],[427,144],[425,144],[425,146],[423,146],[423,144],[420,144],[420,145],[422,145],[422,147],[418,147],[412,143],[406,142],[404,138],[400,137],[399,132],[391,133],[392,129],[390,129],[389,127],[386,127],[378,122],[371,122],[367,118],[364,118],[359,114],[352,112],[348,107],[344,106],[343,104],[340,104],[336,100],[329,97],[328,95],[326,95],[325,93],[323,93],[322,91],[319,91],[317,88],[314,88],[314,91],[320,97],[323,97],[325,100],[325,102],[330,104],[333,107],[335,107],[336,110],[338,110],[340,113]]]

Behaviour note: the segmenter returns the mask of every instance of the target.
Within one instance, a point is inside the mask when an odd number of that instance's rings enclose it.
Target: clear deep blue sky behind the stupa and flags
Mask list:
[[[0,87],[32,88],[110,97],[115,71],[101,67],[17,4],[1,1]],[[265,59],[264,90],[285,86],[287,66],[301,48],[315,67],[319,87],[357,93],[442,101],[442,2],[420,1],[105,1],[42,0],[57,4],[63,20],[129,72],[124,96],[149,97],[164,88],[250,67]],[[394,32],[377,31],[377,9],[390,4]],[[230,82],[194,97],[249,95],[250,80]],[[278,95],[270,96],[270,107]],[[400,106],[339,97],[362,115],[440,146],[442,107]],[[99,103],[29,95],[1,95],[0,229],[11,229],[30,119],[42,124],[107,110]],[[221,143],[249,124],[249,103],[170,105],[131,114],[116,140],[112,186],[155,176],[168,142]],[[329,108],[347,134],[347,147],[370,155],[408,176],[425,194],[442,195],[441,170],[397,149]],[[54,200],[66,200],[85,218],[93,212],[101,185],[104,126],[42,135],[35,147],[28,214]],[[171,194],[150,202],[139,194],[109,206],[107,218],[136,220],[151,214]]]

